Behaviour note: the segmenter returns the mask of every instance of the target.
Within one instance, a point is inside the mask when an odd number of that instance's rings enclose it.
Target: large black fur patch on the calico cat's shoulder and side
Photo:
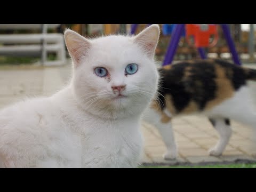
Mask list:
[[[193,66],[189,69],[190,75],[185,76],[185,70],[190,66]],[[195,101],[199,109],[203,110],[206,102],[215,98],[215,69],[208,62],[200,61],[193,64],[181,62],[173,65],[169,70],[159,69],[159,73],[163,76],[161,86],[164,87],[160,87],[159,92],[163,95],[172,95],[173,104],[178,113],[190,101]],[[164,102],[163,97],[160,99]]]

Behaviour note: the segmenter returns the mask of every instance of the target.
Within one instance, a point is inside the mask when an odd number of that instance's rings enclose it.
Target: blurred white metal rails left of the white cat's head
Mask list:
[[[0,24],[0,29],[41,29],[41,34],[1,34],[0,55],[41,56],[42,65],[63,65],[66,63],[66,47],[63,34],[47,33],[60,24]],[[57,60],[47,61],[47,52],[56,53]]]

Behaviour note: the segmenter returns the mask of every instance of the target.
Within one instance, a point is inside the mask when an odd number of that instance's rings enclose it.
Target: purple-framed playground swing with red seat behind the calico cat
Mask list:
[[[149,24],[150,25],[150,24]],[[229,27],[227,24],[219,24],[221,27],[223,34],[225,35],[227,44],[229,46],[229,50],[232,54],[233,60],[237,65],[241,65],[241,61],[239,60],[235,44],[233,42],[233,39],[231,38]],[[131,34],[134,34],[136,29],[138,27],[138,24],[132,24],[131,26]],[[185,30],[186,29],[186,30]],[[163,66],[169,65],[172,63],[175,52],[177,51],[178,44],[180,41],[180,38],[184,31],[186,33],[188,44],[192,45],[190,42],[189,37],[193,36],[195,39],[195,47],[197,48],[200,57],[202,59],[206,59],[206,54],[204,51],[204,47],[207,46],[214,46],[218,42],[218,30],[217,30],[217,24],[176,24],[172,31],[172,38],[169,43],[169,46],[167,48],[167,52],[164,58]],[[165,30],[166,32],[166,30]],[[212,43],[209,42],[209,38],[214,35],[214,40]]]

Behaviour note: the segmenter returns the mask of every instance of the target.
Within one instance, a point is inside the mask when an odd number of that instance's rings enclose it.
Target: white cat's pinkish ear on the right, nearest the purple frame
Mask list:
[[[135,36],[134,41],[138,43],[150,59],[153,59],[158,43],[160,29],[157,24],[151,25]]]

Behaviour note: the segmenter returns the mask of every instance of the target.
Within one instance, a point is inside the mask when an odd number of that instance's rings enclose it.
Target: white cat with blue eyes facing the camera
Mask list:
[[[141,114],[155,97],[159,26],[135,37],[65,41],[73,78],[49,98],[0,111],[1,167],[136,167]]]

